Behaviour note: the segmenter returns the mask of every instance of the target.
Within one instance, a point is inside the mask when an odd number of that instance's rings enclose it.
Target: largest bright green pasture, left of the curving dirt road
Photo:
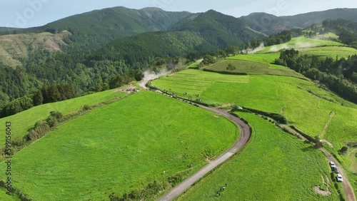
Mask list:
[[[231,147],[238,132],[215,113],[142,91],[60,125],[16,153],[13,182],[34,200],[108,200],[112,192],[196,172]]]

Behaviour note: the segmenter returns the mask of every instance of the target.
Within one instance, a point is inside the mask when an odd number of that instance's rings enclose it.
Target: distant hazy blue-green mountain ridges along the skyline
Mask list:
[[[357,9],[332,9],[295,16],[253,13],[235,18],[213,10],[192,14],[186,11],[170,12],[159,8],[128,9],[120,6],[69,16],[35,28],[0,27],[0,32],[2,34],[14,33],[14,31],[15,33],[44,31],[55,33],[67,30],[74,35],[76,42],[85,43],[84,40],[90,38],[90,46],[98,48],[114,39],[149,31],[193,31],[208,37],[206,39],[213,45],[226,46],[244,43],[252,38],[271,35],[283,30],[303,29],[326,19],[357,21]]]

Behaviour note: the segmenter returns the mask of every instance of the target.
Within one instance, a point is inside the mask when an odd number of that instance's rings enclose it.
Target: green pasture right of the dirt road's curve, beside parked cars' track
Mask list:
[[[321,175],[331,180],[328,161],[319,150],[263,118],[237,114],[251,124],[251,142],[177,200],[338,200],[334,187],[327,197],[313,190],[322,184]]]

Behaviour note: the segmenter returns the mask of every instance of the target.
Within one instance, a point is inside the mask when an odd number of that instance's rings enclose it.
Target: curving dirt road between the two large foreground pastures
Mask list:
[[[241,130],[241,135],[239,137],[239,140],[233,145],[233,147],[227,150],[226,153],[223,153],[222,155],[218,156],[216,160],[211,161],[211,163],[203,167],[201,170],[196,172],[191,177],[188,177],[188,179],[184,180],[183,182],[181,182],[181,184],[174,187],[170,192],[167,192],[163,197],[159,199],[159,201],[174,200],[176,197],[178,197],[178,195],[181,195],[183,192],[185,192],[189,187],[191,187],[191,185],[193,185],[196,181],[201,179],[201,177],[206,175],[209,171],[213,170],[218,165],[228,160],[228,158],[231,158],[231,156],[234,155],[236,152],[238,152],[238,150],[241,150],[241,148],[243,148],[243,146],[246,145],[246,143],[248,143],[248,140],[251,138],[251,130],[249,126],[246,123],[244,123],[241,119],[229,114],[227,111],[224,110],[218,110],[217,108],[208,108],[203,105],[198,105],[198,106],[200,108],[210,110],[218,115],[222,115],[230,119],[236,125],[238,125],[238,127]]]

